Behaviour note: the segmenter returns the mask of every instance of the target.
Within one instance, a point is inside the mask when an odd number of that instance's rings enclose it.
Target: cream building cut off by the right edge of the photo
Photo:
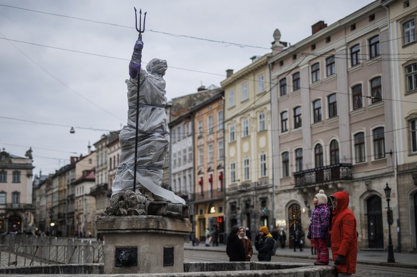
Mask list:
[[[398,191],[393,231],[399,250],[417,249],[417,1],[382,1],[388,9],[392,105]],[[396,228],[397,227],[397,228]],[[397,237],[397,236],[395,236]]]

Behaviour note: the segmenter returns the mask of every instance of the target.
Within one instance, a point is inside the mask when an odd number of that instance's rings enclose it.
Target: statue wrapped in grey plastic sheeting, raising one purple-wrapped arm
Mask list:
[[[170,139],[165,113],[167,98],[163,79],[167,62],[161,59],[151,59],[144,70],[141,68],[142,48],[143,41],[139,35],[129,63],[130,78],[126,80],[128,118],[127,124],[119,134],[121,155],[112,186],[111,199],[115,204],[123,200],[123,197],[126,197],[124,195],[131,195],[130,192],[126,194],[126,191],[135,191],[135,183],[139,189],[136,193],[141,195],[137,198],[143,204],[152,202],[152,204],[171,203],[182,206],[185,204],[183,198],[161,187],[162,166]],[[136,126],[136,120],[138,120],[138,126]],[[136,182],[134,182],[135,175]],[[148,207],[148,205],[145,206]]]

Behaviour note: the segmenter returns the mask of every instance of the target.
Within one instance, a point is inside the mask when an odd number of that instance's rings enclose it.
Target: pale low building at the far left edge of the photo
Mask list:
[[[34,223],[32,149],[25,156],[0,151],[0,233],[22,233]]]

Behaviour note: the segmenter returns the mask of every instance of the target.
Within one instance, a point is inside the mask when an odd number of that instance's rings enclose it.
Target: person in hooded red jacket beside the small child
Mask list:
[[[338,191],[330,195],[330,199],[333,204],[332,230],[330,231],[333,261],[339,277],[352,276],[356,273],[358,252],[356,218],[347,208],[349,205],[347,192]]]

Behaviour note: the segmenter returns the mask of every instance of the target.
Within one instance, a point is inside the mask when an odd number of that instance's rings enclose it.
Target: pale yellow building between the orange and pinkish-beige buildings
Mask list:
[[[252,57],[252,63],[236,73],[227,70],[221,82],[227,230],[242,225],[253,231],[274,222],[270,56]]]

